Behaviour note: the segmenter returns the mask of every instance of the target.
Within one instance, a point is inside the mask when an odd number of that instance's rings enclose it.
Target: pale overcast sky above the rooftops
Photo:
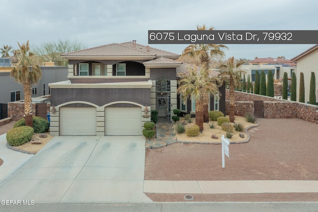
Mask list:
[[[87,47],[137,40],[148,30],[318,30],[317,0],[0,0],[0,47],[58,39]],[[318,39],[318,38],[317,38]],[[317,41],[318,43],[318,41]],[[314,44],[228,44],[226,57],[285,56]],[[151,44],[181,54],[186,44]]]

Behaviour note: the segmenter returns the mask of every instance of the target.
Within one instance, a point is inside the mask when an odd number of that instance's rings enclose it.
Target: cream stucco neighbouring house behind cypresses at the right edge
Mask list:
[[[305,103],[309,102],[309,89],[311,73],[315,72],[316,76],[316,98],[318,102],[318,44],[307,49],[301,54],[291,59],[293,62],[297,62],[297,102],[299,101],[299,80],[300,73],[304,73],[305,81]]]

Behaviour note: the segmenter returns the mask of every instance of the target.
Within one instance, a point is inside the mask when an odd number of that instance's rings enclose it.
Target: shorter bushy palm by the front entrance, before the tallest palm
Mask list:
[[[195,123],[203,130],[203,110],[204,104],[208,101],[208,94],[219,96],[219,77],[209,77],[206,67],[203,65],[200,71],[197,67],[188,67],[189,73],[184,73],[181,80],[178,82],[179,87],[177,93],[183,98],[182,101],[186,102],[188,98],[193,98],[195,101]]]

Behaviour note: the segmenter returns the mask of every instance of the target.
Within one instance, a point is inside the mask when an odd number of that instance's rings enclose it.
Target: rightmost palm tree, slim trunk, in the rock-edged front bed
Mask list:
[[[222,64],[220,69],[222,70],[219,75],[223,81],[229,81],[229,96],[230,96],[230,121],[234,122],[235,113],[235,88],[241,85],[241,74],[246,73],[239,69],[243,63],[234,63],[234,57],[228,59],[227,63]]]

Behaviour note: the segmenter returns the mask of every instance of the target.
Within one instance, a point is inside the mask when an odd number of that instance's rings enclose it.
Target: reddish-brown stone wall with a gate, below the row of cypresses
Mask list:
[[[226,98],[228,98],[228,94],[226,94]],[[264,101],[264,118],[299,118],[318,123],[318,106],[244,92],[236,92],[236,100],[235,115],[244,116],[246,112],[254,112],[254,102],[252,101]],[[227,115],[229,111],[230,103],[226,100]]]

